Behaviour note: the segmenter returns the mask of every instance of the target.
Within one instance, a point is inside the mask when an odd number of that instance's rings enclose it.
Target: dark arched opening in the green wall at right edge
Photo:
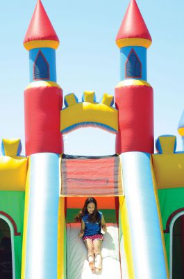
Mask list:
[[[172,279],[184,278],[184,215],[173,227]]]

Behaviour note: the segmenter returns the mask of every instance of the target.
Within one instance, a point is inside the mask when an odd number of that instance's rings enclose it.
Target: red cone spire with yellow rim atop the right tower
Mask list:
[[[135,0],[131,0],[122,21],[122,25],[117,33],[116,43],[118,47],[128,45],[138,45],[149,47],[151,36],[147,29],[140,10]]]

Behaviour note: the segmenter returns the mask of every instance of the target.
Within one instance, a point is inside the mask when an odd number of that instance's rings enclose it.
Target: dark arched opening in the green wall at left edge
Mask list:
[[[0,218],[0,278],[12,279],[12,248],[10,227]]]

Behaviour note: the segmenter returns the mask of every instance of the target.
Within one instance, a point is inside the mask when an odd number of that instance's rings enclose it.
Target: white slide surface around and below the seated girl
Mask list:
[[[81,224],[67,224],[67,279],[121,279],[119,262],[119,240],[117,224],[107,224],[108,232],[104,234],[101,254],[103,269],[101,273],[92,273],[87,262],[87,249],[78,233]]]

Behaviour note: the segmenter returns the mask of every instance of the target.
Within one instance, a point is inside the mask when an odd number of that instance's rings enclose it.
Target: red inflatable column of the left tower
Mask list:
[[[28,87],[24,91],[26,155],[62,153],[60,110],[62,89],[54,86]]]

